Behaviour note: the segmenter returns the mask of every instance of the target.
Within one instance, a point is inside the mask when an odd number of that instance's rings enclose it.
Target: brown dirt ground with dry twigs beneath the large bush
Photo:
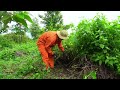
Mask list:
[[[105,65],[95,65],[85,58],[81,60],[84,64],[77,63],[71,66],[57,61],[55,68],[51,70],[46,79],[83,79],[83,76],[91,71],[96,71],[96,79],[120,79],[120,76],[117,76],[114,70],[108,69]],[[87,79],[92,78],[88,77]]]

